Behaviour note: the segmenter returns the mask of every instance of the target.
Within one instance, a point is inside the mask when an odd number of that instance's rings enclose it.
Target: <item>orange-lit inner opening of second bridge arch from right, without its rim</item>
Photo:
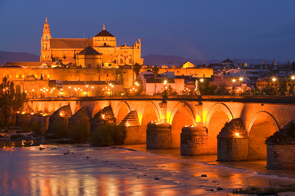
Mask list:
[[[230,119],[224,111],[214,112],[208,126],[208,151],[210,154],[217,154],[217,135],[224,127],[225,122],[230,122]]]

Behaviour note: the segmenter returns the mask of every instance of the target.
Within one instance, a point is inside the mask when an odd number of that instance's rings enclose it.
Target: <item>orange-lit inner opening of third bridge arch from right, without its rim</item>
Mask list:
[[[180,147],[180,134],[184,125],[194,125],[191,114],[186,109],[179,109],[173,117],[171,126],[171,147]]]

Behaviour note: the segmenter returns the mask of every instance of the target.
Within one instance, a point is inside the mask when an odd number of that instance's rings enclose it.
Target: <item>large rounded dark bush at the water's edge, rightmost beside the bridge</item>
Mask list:
[[[89,141],[93,146],[120,145],[124,144],[126,136],[127,130],[123,124],[108,123],[97,127]]]

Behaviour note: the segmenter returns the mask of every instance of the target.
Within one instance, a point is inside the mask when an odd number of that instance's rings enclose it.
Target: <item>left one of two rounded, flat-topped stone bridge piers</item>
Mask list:
[[[147,149],[171,148],[171,125],[149,123],[147,128]]]

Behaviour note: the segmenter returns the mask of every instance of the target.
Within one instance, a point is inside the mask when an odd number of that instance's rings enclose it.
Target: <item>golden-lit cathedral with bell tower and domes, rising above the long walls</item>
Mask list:
[[[46,18],[41,39],[40,61],[56,62],[67,57],[76,59],[78,66],[87,68],[101,68],[104,63],[143,64],[140,39],[132,46],[117,46],[116,37],[105,30],[105,25],[92,39],[52,38]]]

